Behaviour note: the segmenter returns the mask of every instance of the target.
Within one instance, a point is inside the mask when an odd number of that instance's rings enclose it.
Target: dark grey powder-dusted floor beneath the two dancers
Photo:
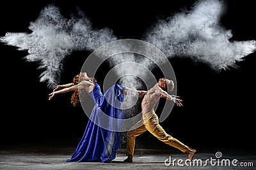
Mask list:
[[[0,169],[256,169],[256,154],[243,150],[218,150],[218,155],[204,150],[196,153],[191,164],[184,162],[187,153],[152,148],[136,148],[132,163],[123,162],[126,158],[124,148],[117,151],[112,163],[65,162],[71,157],[74,147],[1,145]]]

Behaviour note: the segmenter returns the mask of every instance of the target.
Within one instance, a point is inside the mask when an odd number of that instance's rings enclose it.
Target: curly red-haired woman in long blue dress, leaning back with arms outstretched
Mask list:
[[[113,128],[113,121],[109,121],[110,119],[107,119],[108,122],[102,120],[102,113],[118,120],[124,118],[120,103],[124,101],[124,94],[127,94],[129,90],[138,93],[139,97],[145,94],[143,90],[133,90],[118,84],[112,85],[102,94],[95,78],[89,77],[86,72],[77,74],[73,83],[54,87],[53,92],[49,94],[49,100],[56,94],[75,91],[71,98],[71,103],[74,106],[83,101],[83,95],[86,92],[95,103],[83,138],[77,145],[71,159],[68,159],[67,162],[105,163],[115,159],[116,150],[120,147],[120,132],[109,130]],[[101,124],[104,124],[105,127],[102,128]],[[109,128],[106,128],[106,125]]]

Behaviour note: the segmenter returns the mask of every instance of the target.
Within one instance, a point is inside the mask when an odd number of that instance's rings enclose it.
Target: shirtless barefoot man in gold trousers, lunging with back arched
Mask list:
[[[196,150],[189,148],[188,146],[181,143],[178,139],[173,138],[170,134],[167,134],[163,127],[159,125],[158,117],[154,111],[154,106],[160,97],[173,101],[177,106],[182,106],[182,100],[178,99],[179,96],[171,96],[165,90],[172,91],[174,89],[174,83],[172,80],[166,78],[160,78],[159,81],[149,89],[145,91],[145,96],[143,97],[141,103],[141,113],[142,122],[138,122],[140,127],[132,129],[127,132],[127,148],[126,155],[128,156],[124,162],[132,162],[132,157],[134,153],[135,138],[145,131],[149,131],[151,134],[156,136],[157,139],[163,141],[167,145],[178,148],[182,152],[188,153],[188,159],[191,161],[196,153]],[[138,125],[138,124],[137,124]]]

